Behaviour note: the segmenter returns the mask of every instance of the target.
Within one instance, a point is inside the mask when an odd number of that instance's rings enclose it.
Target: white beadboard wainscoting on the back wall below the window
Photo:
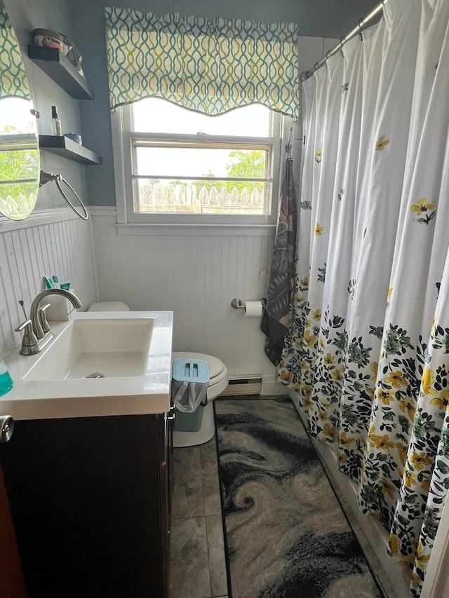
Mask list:
[[[220,358],[233,374],[274,374],[260,318],[231,301],[267,294],[273,236],[119,235],[114,215],[93,215],[101,301],[175,314],[173,351]]]

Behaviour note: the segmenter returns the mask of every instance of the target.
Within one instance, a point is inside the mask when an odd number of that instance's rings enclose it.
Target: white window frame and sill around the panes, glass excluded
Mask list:
[[[151,226],[163,227],[168,231],[168,226],[179,232],[180,227],[201,227],[206,229],[225,227],[238,228],[268,228],[276,226],[278,199],[280,191],[281,170],[285,167],[286,153],[281,151],[283,135],[288,127],[293,125],[293,118],[272,113],[272,135],[270,137],[224,137],[207,135],[207,142],[250,142],[254,144],[269,143],[272,145],[273,167],[272,167],[272,197],[271,212],[269,215],[210,215],[210,214],[185,214],[185,213],[163,213],[157,214],[148,212],[145,214],[134,211],[133,205],[133,177],[132,177],[132,140],[133,138],[170,139],[170,140],[196,140],[205,141],[204,135],[173,135],[168,133],[135,132],[131,126],[132,111],[130,104],[113,109],[111,111],[112,124],[112,147],[114,154],[114,177],[116,186],[116,209],[117,226],[122,226],[122,233],[142,232],[138,226],[146,228]],[[149,135],[150,133],[150,135]],[[126,230],[125,230],[126,229]]]

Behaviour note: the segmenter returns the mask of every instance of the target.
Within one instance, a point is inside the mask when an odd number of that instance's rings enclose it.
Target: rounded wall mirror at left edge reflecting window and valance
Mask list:
[[[20,47],[0,0],[0,213],[23,220],[39,189],[39,138]]]

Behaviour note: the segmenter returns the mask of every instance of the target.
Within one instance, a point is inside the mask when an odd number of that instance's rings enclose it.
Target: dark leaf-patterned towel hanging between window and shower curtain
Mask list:
[[[278,365],[281,361],[283,339],[288,332],[290,321],[290,299],[295,277],[296,229],[297,206],[293,160],[288,158],[279,198],[267,307],[260,325],[260,329],[267,336],[265,353],[274,365]]]

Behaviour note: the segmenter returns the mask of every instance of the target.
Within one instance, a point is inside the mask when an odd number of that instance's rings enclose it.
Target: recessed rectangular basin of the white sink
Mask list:
[[[150,318],[72,320],[24,379],[141,376],[147,365],[153,325]]]

